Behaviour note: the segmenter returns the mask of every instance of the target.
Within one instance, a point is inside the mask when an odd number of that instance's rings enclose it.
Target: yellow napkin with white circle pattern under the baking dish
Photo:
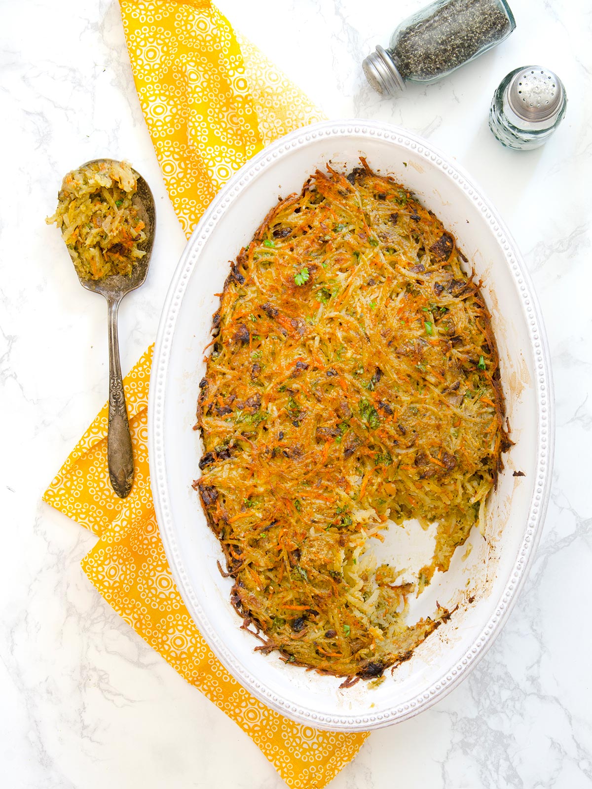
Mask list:
[[[189,235],[234,170],[276,137],[322,116],[206,0],[121,0],[133,76],[170,199]],[[268,709],[201,638],[174,585],[148,476],[152,348],[124,380],[135,477],[118,499],[107,472],[107,406],[44,495],[99,537],[88,578],[188,682],[235,720],[290,787],[324,787],[367,734],[317,731]]]

